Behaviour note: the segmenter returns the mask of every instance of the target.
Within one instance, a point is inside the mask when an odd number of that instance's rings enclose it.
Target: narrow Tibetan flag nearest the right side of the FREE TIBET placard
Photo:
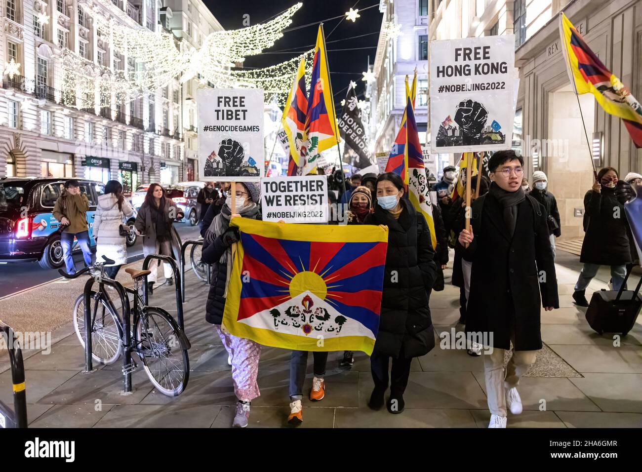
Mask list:
[[[306,153],[306,113],[308,98],[306,96],[306,60],[301,58],[299,70],[288,93],[281,123],[288,136],[290,144],[290,159],[288,159],[288,175],[297,175],[300,168],[301,155]]]

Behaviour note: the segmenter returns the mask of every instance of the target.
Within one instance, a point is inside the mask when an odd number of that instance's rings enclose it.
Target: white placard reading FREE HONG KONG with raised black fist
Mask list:
[[[432,153],[510,149],[514,35],[430,42]]]

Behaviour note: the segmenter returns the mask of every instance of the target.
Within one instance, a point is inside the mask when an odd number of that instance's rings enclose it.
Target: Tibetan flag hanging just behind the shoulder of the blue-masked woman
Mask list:
[[[414,82],[413,82],[414,86]],[[406,145],[406,161],[408,162],[408,199],[415,209],[424,215],[430,229],[430,240],[433,249],[437,247],[433,206],[430,201],[430,187],[426,179],[426,166],[419,144],[419,132],[415,122],[415,110],[412,106],[412,95],[406,100],[406,130],[408,143]]]

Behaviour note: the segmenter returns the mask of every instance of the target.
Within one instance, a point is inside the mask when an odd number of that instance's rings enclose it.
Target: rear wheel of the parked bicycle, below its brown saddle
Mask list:
[[[147,376],[160,393],[180,395],[189,379],[187,348],[178,335],[178,325],[160,308],[146,308],[136,324],[135,346]]]

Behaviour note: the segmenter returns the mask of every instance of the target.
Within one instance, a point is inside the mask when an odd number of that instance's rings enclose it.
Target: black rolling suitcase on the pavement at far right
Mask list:
[[[600,290],[594,292],[591,303],[586,310],[586,320],[591,328],[600,333],[622,333],[626,336],[638,318],[642,307],[642,297],[639,290],[642,285],[640,279],[635,291],[624,290],[633,266],[629,266],[620,291]]]

